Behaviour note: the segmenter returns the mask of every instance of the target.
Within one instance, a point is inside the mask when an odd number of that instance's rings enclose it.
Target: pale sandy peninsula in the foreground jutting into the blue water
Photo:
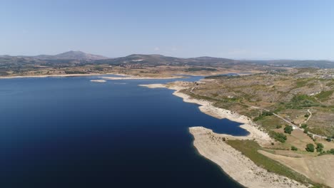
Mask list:
[[[191,127],[189,131],[194,137],[193,145],[198,152],[218,164],[231,178],[246,187],[305,187],[287,177],[268,172],[258,167],[223,141],[224,135],[219,135],[204,127]]]

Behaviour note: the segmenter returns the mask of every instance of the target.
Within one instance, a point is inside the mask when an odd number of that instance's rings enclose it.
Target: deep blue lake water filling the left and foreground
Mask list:
[[[1,188],[240,187],[198,155],[188,132],[247,135],[237,122],[138,86],[173,80],[92,78],[0,80]]]

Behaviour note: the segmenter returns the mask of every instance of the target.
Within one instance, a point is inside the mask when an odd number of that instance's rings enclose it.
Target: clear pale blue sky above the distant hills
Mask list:
[[[0,0],[0,54],[334,59],[334,1]]]

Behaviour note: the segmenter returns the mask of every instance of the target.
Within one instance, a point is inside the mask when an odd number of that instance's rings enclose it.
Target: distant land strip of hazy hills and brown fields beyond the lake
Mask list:
[[[220,73],[281,72],[290,68],[334,68],[332,61],[241,61],[229,58],[176,58],[158,54],[132,54],[120,58],[68,51],[57,55],[0,56],[0,76],[53,75],[71,73],[127,73],[156,75],[179,73],[218,75]]]

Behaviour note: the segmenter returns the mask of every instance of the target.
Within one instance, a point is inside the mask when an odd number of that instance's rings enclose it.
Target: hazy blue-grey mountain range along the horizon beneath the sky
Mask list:
[[[275,66],[275,67],[295,67],[295,68],[334,68],[334,61],[315,60],[234,60],[229,58],[197,57],[197,58],[176,58],[162,56],[158,54],[143,55],[132,54],[120,58],[107,58],[105,56],[83,53],[82,51],[68,51],[57,55],[39,56],[0,56],[0,63],[85,63],[85,64],[110,64],[114,66],[126,64],[141,64],[143,66],[211,66],[226,67],[233,66]]]

